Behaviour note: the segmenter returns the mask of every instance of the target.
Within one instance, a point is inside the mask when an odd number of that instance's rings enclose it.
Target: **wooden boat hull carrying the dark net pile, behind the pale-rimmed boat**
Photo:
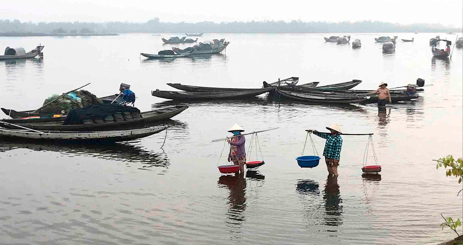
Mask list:
[[[46,119],[3,119],[2,121],[8,123],[14,123],[19,126],[35,130],[57,130],[57,131],[92,131],[100,129],[108,129],[115,127],[125,126],[143,126],[145,123],[151,123],[156,121],[162,121],[170,119],[188,108],[188,105],[179,104],[173,107],[166,107],[162,109],[152,110],[142,113],[119,113],[119,119],[117,115],[101,116],[101,119],[88,119],[83,120],[82,124],[64,125],[63,121],[67,116],[61,118]],[[127,114],[127,115],[126,115]],[[129,115],[130,114],[130,115]],[[95,116],[95,118],[97,115]],[[40,120],[40,121],[39,121]],[[58,121],[59,120],[59,121]],[[7,128],[17,128],[15,126],[5,125]]]

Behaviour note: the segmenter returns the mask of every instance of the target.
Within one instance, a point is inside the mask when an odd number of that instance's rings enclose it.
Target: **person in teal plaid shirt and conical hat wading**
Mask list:
[[[309,130],[309,132],[326,139],[325,150],[323,151],[326,168],[328,169],[328,175],[336,177],[338,176],[339,158],[341,157],[341,146],[343,145],[343,138],[339,135],[342,132],[337,123],[326,127],[326,129],[331,133],[322,133],[316,130]]]

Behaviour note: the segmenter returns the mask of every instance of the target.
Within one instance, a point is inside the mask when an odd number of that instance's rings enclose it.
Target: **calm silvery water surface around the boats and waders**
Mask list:
[[[319,34],[207,35],[200,40],[226,38],[231,44],[224,54],[177,60],[140,59],[140,52],[170,49],[157,34],[0,38],[1,47],[45,45],[43,60],[0,62],[0,106],[16,110],[35,109],[51,94],[88,82],[86,89],[98,96],[117,93],[121,82],[131,84],[142,111],[173,104],[150,95],[156,88],[170,90],[166,82],[260,88],[263,81],[299,76],[301,84],[320,85],[361,79],[357,88],[371,90],[382,81],[393,88],[419,77],[433,84],[418,100],[394,104],[386,113],[375,105],[278,103],[265,97],[193,102],[163,122],[170,126],[163,149],[164,132],[116,145],[1,141],[1,243],[436,244],[453,239],[438,224],[440,214],[461,219],[460,186],[436,170],[432,159],[463,154],[463,50],[454,50],[451,60],[433,58],[428,40],[436,34],[350,34],[362,40],[358,50],[325,43]],[[382,35],[415,41],[398,41],[394,54],[382,54],[373,39]],[[327,178],[323,163],[299,168],[294,158],[302,151],[304,130],[322,131],[332,122],[344,132],[375,134],[381,175],[362,175],[366,136],[343,137],[337,180]],[[246,131],[281,127],[259,134],[262,157],[257,159],[266,164],[243,177],[220,175],[224,145],[211,142],[227,136],[234,123]],[[313,140],[321,154],[324,140]],[[310,144],[307,152],[312,154]],[[374,164],[373,158],[368,163]]]

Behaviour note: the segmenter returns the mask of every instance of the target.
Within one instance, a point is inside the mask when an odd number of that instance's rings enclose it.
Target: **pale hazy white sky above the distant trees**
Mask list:
[[[357,21],[462,26],[462,0],[4,0],[1,19],[163,22]]]

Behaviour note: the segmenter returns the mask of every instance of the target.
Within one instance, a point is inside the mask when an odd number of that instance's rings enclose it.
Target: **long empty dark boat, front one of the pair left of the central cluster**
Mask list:
[[[151,95],[159,98],[170,100],[214,100],[214,99],[238,99],[249,98],[260,94],[270,92],[275,87],[259,88],[249,91],[236,91],[236,92],[175,92],[175,91],[151,91]]]

